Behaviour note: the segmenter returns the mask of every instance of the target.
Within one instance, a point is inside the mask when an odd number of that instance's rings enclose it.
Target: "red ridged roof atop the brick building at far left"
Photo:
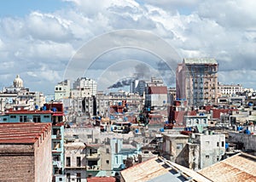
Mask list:
[[[50,127],[41,122],[0,123],[0,144],[33,144]]]

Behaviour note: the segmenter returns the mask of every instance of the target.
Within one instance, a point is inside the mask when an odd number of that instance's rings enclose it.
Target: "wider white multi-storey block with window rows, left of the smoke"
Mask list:
[[[87,77],[80,77],[73,83],[73,89],[90,88],[91,95],[96,95],[97,82]]]

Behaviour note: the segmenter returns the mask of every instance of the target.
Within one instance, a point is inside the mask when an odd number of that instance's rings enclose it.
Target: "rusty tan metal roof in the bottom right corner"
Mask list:
[[[199,171],[212,181],[256,181],[256,156],[239,153]]]

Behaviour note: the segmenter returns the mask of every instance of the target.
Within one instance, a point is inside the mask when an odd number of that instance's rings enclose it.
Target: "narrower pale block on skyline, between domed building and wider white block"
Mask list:
[[[55,100],[66,99],[70,97],[70,81],[64,80],[55,86]]]

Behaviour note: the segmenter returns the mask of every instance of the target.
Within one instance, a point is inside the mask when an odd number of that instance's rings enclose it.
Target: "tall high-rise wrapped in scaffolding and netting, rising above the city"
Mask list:
[[[218,63],[215,59],[183,59],[177,65],[177,100],[187,100],[188,105],[217,104]]]

